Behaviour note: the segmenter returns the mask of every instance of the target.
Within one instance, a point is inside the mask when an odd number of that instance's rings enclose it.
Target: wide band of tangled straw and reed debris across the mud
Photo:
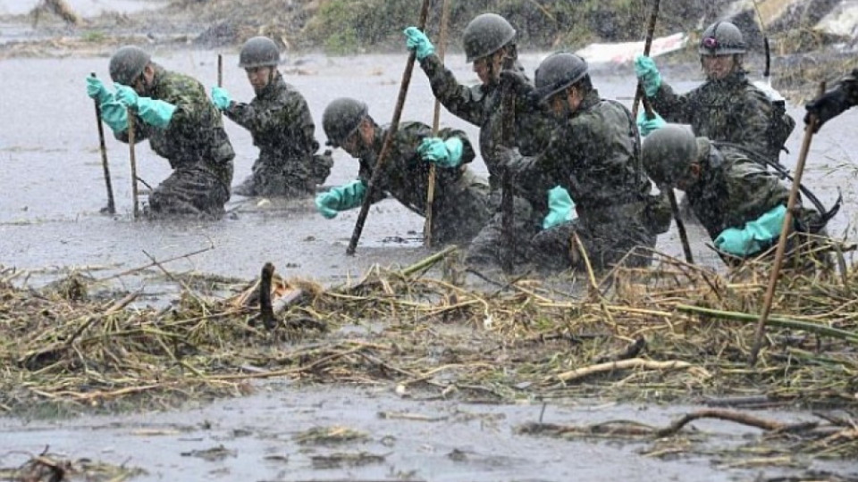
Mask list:
[[[0,410],[173,406],[265,378],[389,384],[416,399],[858,402],[854,269],[785,273],[752,367],[765,266],[719,275],[660,257],[603,279],[478,290],[455,270],[426,276],[449,253],[346,287],[274,275],[273,329],[259,320],[258,282],[228,298],[187,288],[156,310],[129,308],[135,294],[97,302],[73,284],[16,287],[0,271]]]

